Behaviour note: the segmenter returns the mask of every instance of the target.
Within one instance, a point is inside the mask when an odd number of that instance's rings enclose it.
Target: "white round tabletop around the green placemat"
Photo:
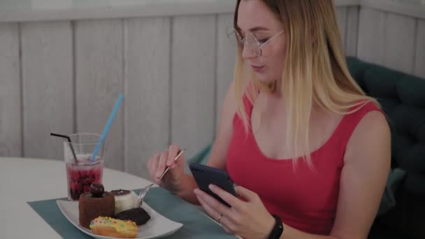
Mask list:
[[[104,168],[103,184],[112,189],[138,189],[150,181]],[[0,238],[61,238],[27,204],[68,196],[63,161],[0,157]]]

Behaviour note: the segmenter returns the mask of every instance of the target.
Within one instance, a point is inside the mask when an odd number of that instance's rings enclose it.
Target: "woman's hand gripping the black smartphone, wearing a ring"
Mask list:
[[[236,198],[227,191],[210,184],[212,192],[217,194],[231,208],[215,200],[212,196],[200,189],[194,193],[208,214],[222,224],[227,233],[243,238],[267,238],[275,224],[275,219],[268,213],[259,196],[243,187],[236,187]]]

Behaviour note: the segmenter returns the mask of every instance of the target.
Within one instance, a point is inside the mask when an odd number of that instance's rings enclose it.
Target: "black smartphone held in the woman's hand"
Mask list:
[[[229,174],[226,171],[222,171],[219,168],[212,168],[203,164],[191,163],[189,164],[190,171],[194,175],[196,184],[198,184],[199,189],[205,191],[207,194],[210,194],[212,197],[220,201],[224,205],[230,207],[229,203],[226,203],[222,198],[213,193],[208,187],[209,184],[214,184],[217,187],[224,189],[233,196],[236,196],[235,188],[233,187],[233,182],[229,177]]]

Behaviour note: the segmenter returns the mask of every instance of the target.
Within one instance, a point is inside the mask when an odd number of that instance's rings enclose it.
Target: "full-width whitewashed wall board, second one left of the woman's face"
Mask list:
[[[191,157],[212,142],[215,128],[215,16],[173,22],[171,143]]]

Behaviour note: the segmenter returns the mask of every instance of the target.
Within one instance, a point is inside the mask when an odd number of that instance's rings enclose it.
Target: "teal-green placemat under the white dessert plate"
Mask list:
[[[134,191],[137,193],[139,190]],[[29,202],[28,204],[52,227],[52,229],[55,229],[62,238],[92,238],[76,229],[75,226],[62,215],[56,203],[58,199],[66,200],[66,198],[55,198]],[[183,224],[182,228],[178,231],[164,238],[236,238],[236,236],[226,234],[221,226],[212,222],[210,218],[203,215],[203,213],[193,205],[174,196],[161,187],[153,187],[150,189],[146,195],[145,202],[161,215],[164,215],[164,217]]]

